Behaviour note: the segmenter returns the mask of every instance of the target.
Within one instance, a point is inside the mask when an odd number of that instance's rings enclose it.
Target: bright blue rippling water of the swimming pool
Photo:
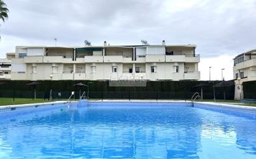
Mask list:
[[[4,112],[0,158],[256,158],[254,114],[210,107],[91,102]]]

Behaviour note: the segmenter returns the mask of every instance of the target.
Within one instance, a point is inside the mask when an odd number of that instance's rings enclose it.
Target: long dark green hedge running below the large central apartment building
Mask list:
[[[16,91],[32,91],[34,87],[27,86],[31,81],[25,80],[10,80],[10,81],[0,81],[5,82],[0,85],[0,90],[16,90]],[[89,84],[90,92],[181,92],[184,98],[191,98],[191,92],[201,92],[201,88],[194,87],[194,85],[200,84],[202,81],[148,81],[147,87],[109,87],[109,81],[89,81],[89,80],[42,80],[38,81],[41,85],[37,85],[36,89],[39,92],[48,92],[49,90],[55,92],[71,92],[78,91],[78,87],[74,87],[74,84],[82,82],[83,84]],[[208,81],[204,81],[208,82]],[[216,84],[218,81],[214,81]],[[211,84],[213,85],[213,84]],[[87,88],[84,88],[87,90]],[[226,99],[234,99],[234,86],[225,88],[226,90]],[[216,98],[223,98],[223,88],[216,88]],[[190,92],[190,93],[187,93]],[[213,87],[206,86],[203,87],[204,99],[213,98]],[[178,96],[177,96],[178,97]]]

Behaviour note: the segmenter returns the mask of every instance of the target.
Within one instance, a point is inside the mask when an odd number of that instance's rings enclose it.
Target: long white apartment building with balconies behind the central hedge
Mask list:
[[[12,80],[199,80],[196,45],[16,46]]]

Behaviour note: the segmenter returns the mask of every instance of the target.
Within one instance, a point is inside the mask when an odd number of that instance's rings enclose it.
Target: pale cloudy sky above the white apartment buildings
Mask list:
[[[256,0],[5,0],[0,58],[17,45],[194,44],[201,80],[233,79],[232,59],[256,48]]]

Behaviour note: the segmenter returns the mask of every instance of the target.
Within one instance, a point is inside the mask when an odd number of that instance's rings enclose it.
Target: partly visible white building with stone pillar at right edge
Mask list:
[[[256,49],[239,54],[234,58],[235,99],[244,97],[242,83],[256,80]],[[238,80],[237,80],[238,79]]]

